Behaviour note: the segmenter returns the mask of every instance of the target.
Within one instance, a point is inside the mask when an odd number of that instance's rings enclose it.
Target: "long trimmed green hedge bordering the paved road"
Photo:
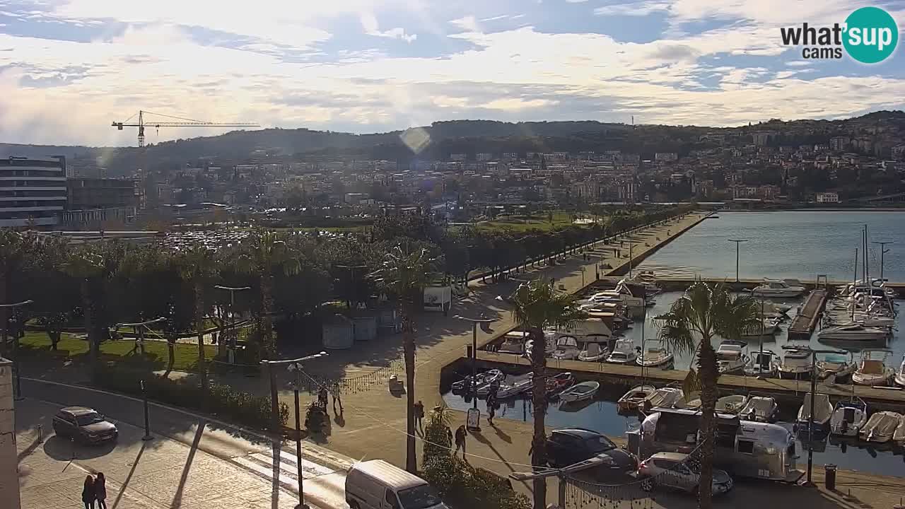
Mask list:
[[[127,371],[100,368],[94,383],[105,389],[116,390],[133,396],[141,396],[141,379],[145,380],[148,399],[176,407],[193,408],[219,415],[243,426],[270,429],[270,397],[252,396],[227,385],[209,384],[205,396],[194,383],[168,379],[148,371]],[[280,403],[280,422],[289,420],[289,406]],[[280,431],[280,430],[271,430]]]

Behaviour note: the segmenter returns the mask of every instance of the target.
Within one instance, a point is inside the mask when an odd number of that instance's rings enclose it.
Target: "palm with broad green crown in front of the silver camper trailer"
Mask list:
[[[737,296],[723,284],[694,283],[670,311],[656,317],[660,340],[673,351],[698,353],[697,370],[690,368],[682,384],[685,394],[700,390],[700,485],[710,486],[713,478],[714,412],[717,405],[717,336],[738,339],[741,331],[758,324],[757,303]],[[699,506],[710,509],[710,490],[700,490]]]

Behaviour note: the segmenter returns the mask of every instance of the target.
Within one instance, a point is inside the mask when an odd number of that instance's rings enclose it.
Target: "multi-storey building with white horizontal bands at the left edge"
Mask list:
[[[0,159],[0,226],[56,226],[65,206],[66,158]]]

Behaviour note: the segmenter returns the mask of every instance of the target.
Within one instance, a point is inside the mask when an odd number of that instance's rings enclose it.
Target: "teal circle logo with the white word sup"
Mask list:
[[[899,42],[899,25],[879,7],[862,7],[849,14],[845,24],[845,51],[858,62],[882,62]]]

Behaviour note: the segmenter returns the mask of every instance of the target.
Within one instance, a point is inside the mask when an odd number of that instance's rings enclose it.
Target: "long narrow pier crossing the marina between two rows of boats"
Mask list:
[[[463,363],[467,358],[462,358]],[[483,369],[512,369],[515,366],[521,371],[530,370],[530,362],[524,357],[506,353],[478,351],[478,362]],[[467,365],[467,364],[462,364]],[[594,379],[602,383],[624,386],[636,385],[644,379],[644,383],[653,385],[681,385],[688,371],[657,370],[640,366],[624,366],[605,362],[585,362],[582,360],[549,360],[548,370],[555,372],[570,371],[576,379]],[[754,393],[765,394],[777,401],[800,403],[806,392],[811,390],[809,380],[790,379],[757,379],[743,375],[722,375],[719,377],[719,388],[725,394]],[[876,389],[872,387],[830,383],[827,380],[817,382],[817,392],[828,394],[832,399],[847,399],[852,396],[863,399],[871,408],[901,412],[905,408],[905,389]]]

